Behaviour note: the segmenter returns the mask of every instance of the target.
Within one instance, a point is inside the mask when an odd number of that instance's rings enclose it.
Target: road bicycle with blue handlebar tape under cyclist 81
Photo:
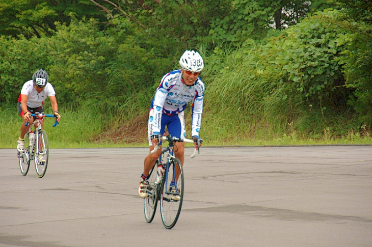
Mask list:
[[[46,132],[41,128],[41,122],[44,117],[54,118],[54,115],[35,113],[31,114],[31,116],[34,117],[34,122],[30,125],[28,133],[24,135],[24,151],[19,152],[17,150],[19,168],[21,174],[26,176],[29,172],[30,161],[34,159],[36,173],[39,178],[42,178],[44,177],[46,168],[48,167],[49,144]],[[29,122],[24,125],[28,126]],[[36,126],[35,131],[32,131],[32,126],[34,125]],[[58,122],[56,121],[53,127],[57,125]]]

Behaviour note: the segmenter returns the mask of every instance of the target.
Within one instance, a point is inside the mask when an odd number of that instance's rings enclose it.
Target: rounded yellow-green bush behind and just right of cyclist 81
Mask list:
[[[95,20],[57,24],[47,47],[48,73],[61,102],[79,105],[88,93],[105,90],[108,63],[117,47],[112,37],[99,32]]]

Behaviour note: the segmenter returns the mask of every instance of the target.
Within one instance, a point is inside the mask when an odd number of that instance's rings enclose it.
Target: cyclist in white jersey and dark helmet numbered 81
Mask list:
[[[29,131],[30,126],[24,126],[26,122],[33,123],[34,117],[31,116],[32,113],[42,113],[43,102],[49,97],[51,108],[54,111],[54,117],[59,122],[60,114],[58,112],[58,104],[56,98],[56,92],[48,83],[48,74],[43,69],[38,69],[32,80],[26,81],[21,89],[21,93],[18,97],[18,113],[23,119],[23,123],[20,129],[20,136],[17,141],[17,150],[19,152],[24,151],[24,135]],[[43,121],[42,123],[43,124]]]

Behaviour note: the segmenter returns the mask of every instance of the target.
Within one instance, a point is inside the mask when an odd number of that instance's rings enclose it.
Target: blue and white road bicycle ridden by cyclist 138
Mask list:
[[[168,146],[162,148],[162,154],[150,171],[147,188],[148,197],[144,198],[143,206],[146,221],[151,223],[155,216],[157,202],[160,201],[163,225],[165,228],[171,229],[176,224],[181,212],[184,187],[182,164],[174,156],[175,143],[186,142],[194,144],[194,141],[179,139],[171,135],[163,136],[161,140],[168,141]],[[200,147],[200,142],[198,142],[198,147]],[[157,149],[158,145],[155,146],[151,153],[155,153]],[[199,148],[195,148],[191,158],[194,158],[197,153],[199,153]]]

